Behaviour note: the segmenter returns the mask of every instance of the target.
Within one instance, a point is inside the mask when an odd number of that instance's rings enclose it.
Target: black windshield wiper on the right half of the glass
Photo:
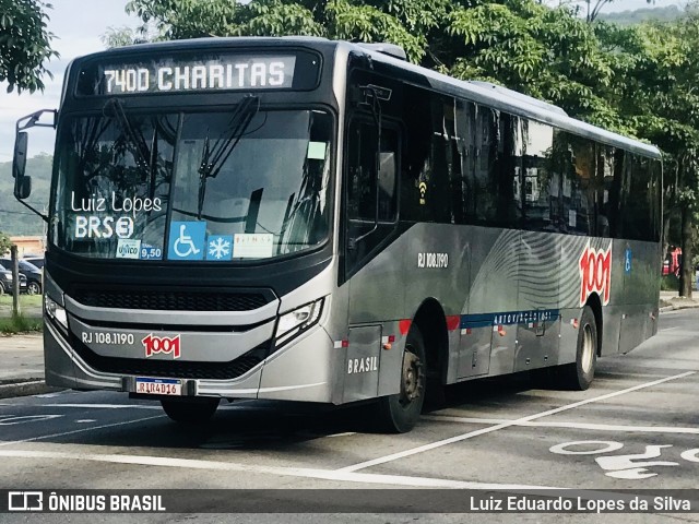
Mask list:
[[[253,106],[256,106],[253,108]],[[235,111],[228,121],[228,128],[211,146],[209,133],[204,139],[204,148],[202,151],[201,164],[199,165],[199,202],[197,206],[197,217],[201,219],[202,209],[204,207],[204,198],[206,195],[206,181],[210,178],[216,178],[226,160],[235,150],[244,133],[250,126],[252,118],[260,110],[260,98],[254,95],[246,96],[240,104],[236,106]]]

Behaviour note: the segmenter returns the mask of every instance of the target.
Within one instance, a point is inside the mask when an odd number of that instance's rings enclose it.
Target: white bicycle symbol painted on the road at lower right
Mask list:
[[[580,450],[576,448],[592,448],[591,450]],[[624,448],[620,442],[612,440],[580,440],[576,442],[565,442],[549,449],[552,453],[559,455],[596,455],[602,453],[613,453]],[[643,453],[627,455],[606,455],[595,457],[597,465],[604,469],[605,475],[626,480],[640,480],[654,477],[657,473],[649,469],[659,466],[678,466],[677,462],[650,461],[648,458],[660,457],[662,450],[672,448],[672,444],[647,445]],[[680,456],[687,462],[699,462],[699,449],[684,451]]]

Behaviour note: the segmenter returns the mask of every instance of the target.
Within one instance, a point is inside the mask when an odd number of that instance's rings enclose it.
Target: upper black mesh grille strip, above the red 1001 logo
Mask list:
[[[254,291],[95,290],[85,288],[76,289],[72,298],[84,306],[95,308],[166,311],[250,311],[272,301],[271,297]]]

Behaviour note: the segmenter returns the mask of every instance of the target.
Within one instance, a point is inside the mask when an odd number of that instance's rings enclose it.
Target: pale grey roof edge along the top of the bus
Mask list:
[[[164,49],[187,49],[192,44],[201,49],[215,49],[230,46],[250,46],[264,45],[265,47],[303,45],[310,48],[325,48],[331,51],[333,48],[345,48],[347,52],[364,53],[371,58],[372,61],[383,63],[392,69],[410,71],[419,74],[435,90],[453,96],[463,97],[484,104],[495,109],[510,112],[512,115],[531,118],[541,122],[549,123],[556,128],[569,131],[571,133],[585,136],[599,142],[606,143],[612,146],[621,147],[645,156],[660,158],[660,150],[653,145],[640,142],[628,136],[592,126],[576,118],[569,117],[560,107],[544,100],[533,98],[507,87],[489,84],[487,82],[463,81],[442,73],[438,73],[427,68],[416,66],[414,63],[394,58],[381,50],[380,46],[362,46],[360,44],[352,44],[343,40],[329,40],[321,37],[309,36],[283,36],[283,37],[209,37],[194,38],[190,40],[170,40],[152,44],[139,44],[120,48],[108,49],[95,55],[110,56],[121,52],[149,52],[163,51]],[[86,58],[86,57],[83,57]],[[79,61],[82,60],[78,59]]]

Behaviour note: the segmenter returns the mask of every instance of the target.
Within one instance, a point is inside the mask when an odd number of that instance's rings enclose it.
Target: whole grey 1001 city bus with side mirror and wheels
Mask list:
[[[59,110],[17,122],[21,201],[40,124],[50,385],[186,424],[222,400],[356,404],[405,432],[431,388],[544,370],[585,390],[656,333],[659,150],[396,46],[78,58]]]

